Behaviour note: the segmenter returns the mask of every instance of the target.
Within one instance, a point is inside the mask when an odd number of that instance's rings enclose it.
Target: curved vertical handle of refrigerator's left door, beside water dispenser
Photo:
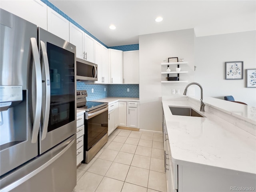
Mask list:
[[[36,79],[36,101],[32,100],[32,108],[34,108],[35,110],[33,110],[34,123],[31,142],[36,143],[38,138],[42,110],[42,74],[36,38],[30,38],[30,53],[32,53]]]

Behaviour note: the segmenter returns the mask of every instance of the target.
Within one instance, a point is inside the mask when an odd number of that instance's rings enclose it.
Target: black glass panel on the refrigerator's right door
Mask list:
[[[47,42],[50,68],[48,132],[75,120],[74,53]]]

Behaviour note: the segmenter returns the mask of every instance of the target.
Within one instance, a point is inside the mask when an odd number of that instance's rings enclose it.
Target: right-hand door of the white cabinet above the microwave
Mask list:
[[[85,60],[94,63],[94,38],[88,34],[84,34],[84,52]]]

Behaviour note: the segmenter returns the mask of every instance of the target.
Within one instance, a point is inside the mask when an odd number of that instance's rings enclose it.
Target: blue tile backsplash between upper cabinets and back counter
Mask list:
[[[94,89],[93,93],[92,88]],[[104,91],[104,88],[106,88],[106,91]],[[129,88],[129,92],[127,92],[127,88]],[[87,90],[88,101],[105,97],[139,97],[138,84],[86,84],[77,81],[76,89]]]

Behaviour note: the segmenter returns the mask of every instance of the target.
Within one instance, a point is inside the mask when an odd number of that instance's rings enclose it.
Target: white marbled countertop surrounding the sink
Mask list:
[[[213,99],[204,99],[213,102]],[[222,103],[222,106],[218,106]],[[230,113],[240,114],[244,111],[236,103],[222,101],[216,103],[217,108],[225,108]],[[162,101],[166,127],[174,162],[193,162],[238,170],[256,174],[256,137],[241,128],[210,113],[200,112],[200,106],[189,102],[188,98],[181,100]],[[231,105],[230,105],[231,104]],[[235,104],[235,106],[232,104]],[[208,105],[208,104],[206,104]],[[169,106],[191,106],[206,118],[172,115]],[[228,112],[228,111],[227,111]],[[249,121],[254,118],[244,115]]]

